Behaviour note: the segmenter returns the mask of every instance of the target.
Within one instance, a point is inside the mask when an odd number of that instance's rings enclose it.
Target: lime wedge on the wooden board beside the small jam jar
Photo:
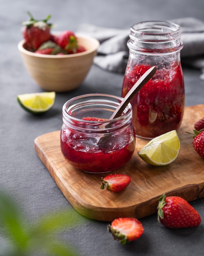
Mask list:
[[[172,130],[150,140],[138,151],[138,155],[148,164],[164,166],[177,158],[180,147],[178,134]]]

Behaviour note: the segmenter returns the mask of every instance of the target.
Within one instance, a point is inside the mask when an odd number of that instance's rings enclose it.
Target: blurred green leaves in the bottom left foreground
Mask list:
[[[56,238],[59,231],[79,224],[74,209],[47,213],[31,222],[11,197],[0,191],[0,256],[76,256],[76,252]],[[2,243],[2,244],[1,244]]]

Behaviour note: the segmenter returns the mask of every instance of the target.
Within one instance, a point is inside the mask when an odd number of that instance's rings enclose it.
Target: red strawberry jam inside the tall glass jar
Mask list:
[[[149,65],[127,67],[122,97],[150,68]],[[138,137],[153,138],[170,130],[177,130],[184,112],[184,81],[181,63],[157,69],[152,79],[131,101],[132,123]]]

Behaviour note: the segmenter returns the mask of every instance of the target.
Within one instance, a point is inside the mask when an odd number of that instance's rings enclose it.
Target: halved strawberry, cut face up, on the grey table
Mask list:
[[[143,234],[141,222],[135,218],[117,218],[108,225],[108,231],[114,237],[114,240],[121,244],[126,244],[138,239]]]

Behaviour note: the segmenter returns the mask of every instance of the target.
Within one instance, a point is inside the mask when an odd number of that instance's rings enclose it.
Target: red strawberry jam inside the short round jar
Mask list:
[[[95,117],[82,120],[102,121]],[[79,123],[80,125],[80,123]],[[61,151],[69,164],[89,173],[106,173],[128,162],[135,150],[135,132],[132,124],[121,128],[100,142],[92,133],[75,132],[65,124],[61,128]],[[99,143],[98,143],[99,141]]]

